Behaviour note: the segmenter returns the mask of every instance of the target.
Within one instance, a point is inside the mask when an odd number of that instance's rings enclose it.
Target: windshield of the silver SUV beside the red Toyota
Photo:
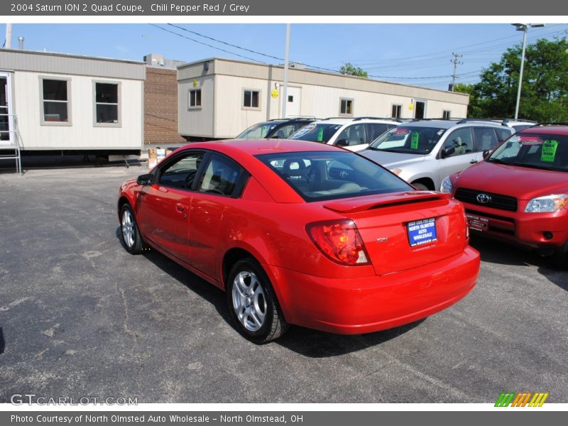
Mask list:
[[[446,129],[398,126],[376,138],[368,148],[390,153],[425,155],[431,153]]]

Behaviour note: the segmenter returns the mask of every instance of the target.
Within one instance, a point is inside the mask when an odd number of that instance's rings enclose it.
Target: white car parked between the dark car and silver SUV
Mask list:
[[[371,141],[398,126],[399,119],[357,117],[355,119],[324,119],[307,124],[290,136],[298,141],[322,142],[342,146],[349,151],[361,151]]]

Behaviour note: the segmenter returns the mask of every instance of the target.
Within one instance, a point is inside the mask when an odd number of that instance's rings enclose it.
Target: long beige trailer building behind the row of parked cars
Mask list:
[[[283,118],[284,67],[209,58],[178,66],[178,129],[190,141],[232,138]],[[286,117],[400,119],[467,116],[469,95],[307,70],[290,64]]]

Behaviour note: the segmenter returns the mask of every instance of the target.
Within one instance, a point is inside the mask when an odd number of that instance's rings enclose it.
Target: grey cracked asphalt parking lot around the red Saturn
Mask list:
[[[0,402],[568,402],[568,273],[546,259],[474,239],[479,281],[447,310],[362,336],[290,327],[257,346],[222,291],[121,246],[116,194],[146,170],[0,171]]]

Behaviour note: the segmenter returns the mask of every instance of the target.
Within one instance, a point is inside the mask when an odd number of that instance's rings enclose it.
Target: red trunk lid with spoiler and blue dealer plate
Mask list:
[[[396,192],[324,202],[355,222],[377,275],[415,268],[464,250],[463,207],[449,195]]]

